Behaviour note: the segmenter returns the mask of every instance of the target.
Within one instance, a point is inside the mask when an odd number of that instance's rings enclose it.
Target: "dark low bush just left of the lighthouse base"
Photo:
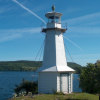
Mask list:
[[[38,93],[38,85],[36,82],[31,82],[27,80],[23,80],[19,85],[16,85],[15,93],[19,95],[20,93],[24,93],[27,95],[29,92],[32,94]]]

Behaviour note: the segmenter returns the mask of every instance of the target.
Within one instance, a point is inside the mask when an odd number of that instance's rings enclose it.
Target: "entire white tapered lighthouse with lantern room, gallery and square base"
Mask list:
[[[45,32],[45,47],[43,65],[39,69],[38,92],[53,93],[73,92],[73,72],[67,66],[63,33],[66,29],[61,27],[61,13],[52,12],[45,15],[48,18],[47,27],[42,30]]]

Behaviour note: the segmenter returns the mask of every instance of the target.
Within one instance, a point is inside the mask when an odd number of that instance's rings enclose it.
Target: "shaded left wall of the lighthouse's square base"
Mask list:
[[[53,93],[57,91],[57,73],[39,73],[39,93]]]

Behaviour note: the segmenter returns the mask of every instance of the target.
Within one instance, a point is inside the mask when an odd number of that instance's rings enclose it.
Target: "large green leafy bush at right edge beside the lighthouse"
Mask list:
[[[83,92],[100,94],[100,61],[88,63],[80,74],[80,87]]]

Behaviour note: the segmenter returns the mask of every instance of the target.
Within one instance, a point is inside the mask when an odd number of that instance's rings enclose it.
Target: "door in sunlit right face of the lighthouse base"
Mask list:
[[[68,93],[68,74],[61,74],[60,77],[60,90],[63,93]]]

